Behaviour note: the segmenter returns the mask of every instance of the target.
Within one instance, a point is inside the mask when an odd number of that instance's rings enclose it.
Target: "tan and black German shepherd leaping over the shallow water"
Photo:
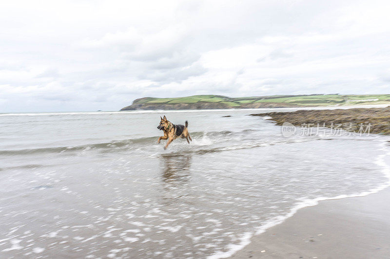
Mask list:
[[[167,144],[164,147],[164,149],[167,149],[168,145],[176,138],[185,138],[187,139],[188,144],[190,144],[188,139],[192,141],[192,138],[190,137],[187,129],[188,121],[186,121],[184,124],[184,126],[179,124],[175,125],[171,121],[168,121],[167,117],[164,115],[164,118],[161,118],[160,124],[157,126],[157,129],[164,131],[164,136],[159,137],[157,143],[160,143],[161,139],[169,138]]]

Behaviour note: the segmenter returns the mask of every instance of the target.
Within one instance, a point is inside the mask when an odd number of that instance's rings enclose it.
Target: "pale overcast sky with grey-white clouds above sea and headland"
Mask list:
[[[390,1],[1,1],[0,112],[390,93]]]

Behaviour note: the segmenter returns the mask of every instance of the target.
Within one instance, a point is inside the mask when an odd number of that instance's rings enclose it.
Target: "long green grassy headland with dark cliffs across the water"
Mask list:
[[[390,94],[370,95],[271,95],[231,98],[222,95],[193,95],[177,98],[144,97],[121,110],[179,110],[179,109],[229,109],[267,107],[310,107],[389,104]]]

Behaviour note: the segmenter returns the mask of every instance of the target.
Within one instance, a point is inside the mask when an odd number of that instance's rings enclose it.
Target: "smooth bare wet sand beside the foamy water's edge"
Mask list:
[[[390,188],[298,210],[233,258],[390,258]]]

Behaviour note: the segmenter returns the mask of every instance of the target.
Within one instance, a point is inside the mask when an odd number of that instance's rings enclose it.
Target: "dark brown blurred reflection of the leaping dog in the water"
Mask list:
[[[191,155],[162,155],[162,181],[165,187],[178,187],[191,178]]]

